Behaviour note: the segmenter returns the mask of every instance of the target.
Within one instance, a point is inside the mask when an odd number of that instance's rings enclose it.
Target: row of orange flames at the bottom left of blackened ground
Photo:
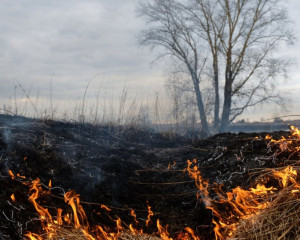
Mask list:
[[[38,203],[38,199],[43,196],[47,195],[50,192],[47,190],[43,190],[42,185],[39,179],[33,180],[30,184],[30,197],[29,201],[35,207],[36,212],[39,214],[40,222],[43,231],[45,231],[46,236],[39,235],[36,233],[28,232],[24,235],[27,240],[50,240],[56,239],[55,237],[58,235],[59,232],[63,231],[65,225],[67,226],[74,226],[75,229],[79,230],[79,233],[83,234],[85,239],[87,240],[117,240],[118,237],[125,233],[126,231],[130,231],[132,235],[138,236],[143,234],[143,230],[137,230],[134,228],[133,224],[128,226],[128,230],[124,227],[122,220],[118,217],[115,222],[115,230],[109,230],[106,227],[96,225],[93,228],[90,228],[87,216],[85,211],[83,210],[82,205],[80,204],[79,194],[75,193],[74,191],[69,191],[65,193],[64,200],[65,202],[71,207],[72,214],[64,214],[61,208],[57,209],[57,216],[52,217],[49,213],[47,208],[42,207]],[[12,195],[13,196],[13,195]],[[100,205],[100,207],[108,212],[112,211],[106,205]],[[150,223],[151,217],[154,215],[153,211],[151,210],[151,206],[147,206],[148,208],[148,216],[146,220],[146,225]],[[130,209],[130,214],[134,217],[135,224],[139,224],[137,221],[136,213],[133,209]],[[172,240],[169,237],[169,233],[167,231],[167,227],[164,228],[160,225],[159,220],[157,221],[157,228],[158,234],[164,240]],[[191,229],[188,230],[190,234],[193,234]],[[77,233],[77,234],[79,234]]]

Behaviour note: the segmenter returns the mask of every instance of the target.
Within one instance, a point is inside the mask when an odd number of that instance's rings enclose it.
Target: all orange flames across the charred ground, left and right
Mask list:
[[[281,137],[279,140],[274,140],[270,135],[265,137],[269,141],[268,147],[277,147],[276,156],[287,153],[288,156],[300,152],[300,131],[291,126],[292,136],[285,138]],[[256,138],[258,139],[258,138]],[[169,169],[175,167],[169,164]],[[244,189],[240,186],[231,189],[230,191],[223,191],[222,187],[216,187],[216,184],[210,184],[205,179],[198,167],[196,160],[187,161],[186,171],[191,178],[194,179],[196,187],[198,188],[197,198],[202,201],[206,208],[213,213],[212,224],[214,225],[214,235],[216,240],[223,239],[239,239],[236,238],[240,229],[241,223],[253,223],[260,216],[264,214],[268,208],[276,204],[276,201],[286,196],[287,194],[300,193],[300,185],[297,181],[299,168],[295,166],[286,166],[276,169],[266,169],[264,171],[263,179],[258,178],[249,189]],[[9,170],[11,179],[23,178],[21,175],[14,175]],[[24,177],[25,178],[25,177]],[[72,209],[72,213],[64,213],[63,209],[58,208],[56,215],[51,215],[49,210],[39,203],[39,198],[43,195],[51,194],[52,182],[49,181],[48,191],[43,190],[39,179],[33,180],[30,184],[29,201],[33,204],[36,212],[39,215],[43,234],[36,234],[28,232],[24,235],[27,240],[48,240],[56,239],[57,233],[66,226],[76,229],[87,240],[117,240],[122,234],[129,232],[131,236],[138,236],[143,234],[143,230],[139,230],[140,224],[137,220],[137,215],[133,209],[130,209],[130,215],[133,222],[127,225],[119,217],[111,218],[114,221],[113,229],[106,226],[90,226],[86,213],[80,203],[80,195],[74,191],[65,193],[65,203]],[[12,201],[16,201],[14,194],[11,196]],[[100,204],[99,204],[100,205]],[[100,208],[112,212],[112,209],[106,205],[101,204]],[[151,206],[147,204],[147,219],[145,225],[148,227],[154,213]],[[154,222],[154,220],[153,220]],[[137,228],[136,228],[137,227]],[[160,220],[156,220],[157,234],[163,240],[173,240],[168,232],[168,225],[163,227]],[[179,234],[176,239],[180,240],[200,240],[196,233],[189,227],[186,227],[184,233]]]

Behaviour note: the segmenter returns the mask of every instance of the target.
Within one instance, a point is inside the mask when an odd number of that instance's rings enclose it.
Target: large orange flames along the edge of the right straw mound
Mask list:
[[[219,200],[214,200],[209,197],[210,185],[207,180],[203,180],[200,175],[201,172],[197,166],[191,167],[196,164],[188,161],[188,172],[192,178],[195,179],[196,186],[198,187],[201,196],[201,200],[206,204],[207,209],[212,210],[217,220],[213,220],[215,225],[215,238],[227,239],[227,237],[233,236],[237,230],[237,225],[241,219],[250,219],[258,215],[262,210],[267,209],[270,206],[268,196],[271,196],[277,188],[271,186],[266,187],[262,184],[257,184],[255,188],[249,190],[236,187],[230,192],[221,192],[216,190]],[[277,178],[279,184],[286,188],[289,183],[296,184],[297,171],[293,167],[288,166],[282,170],[273,170],[273,177]],[[299,191],[299,189],[293,189],[293,192]],[[209,203],[209,204],[207,204]],[[224,205],[229,213],[225,214],[222,210],[219,210],[221,205]]]

